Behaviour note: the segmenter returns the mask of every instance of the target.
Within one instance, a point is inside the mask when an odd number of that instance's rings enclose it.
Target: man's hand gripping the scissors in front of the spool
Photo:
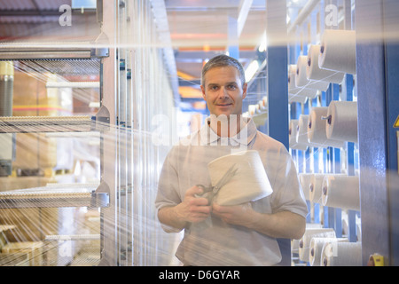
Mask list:
[[[196,197],[203,190],[194,185],[184,195],[184,201],[175,207],[176,217],[184,222],[199,223],[209,217],[212,207],[206,198]]]

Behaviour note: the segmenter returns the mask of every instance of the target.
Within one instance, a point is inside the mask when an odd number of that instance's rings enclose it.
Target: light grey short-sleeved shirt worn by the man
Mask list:
[[[210,185],[207,163],[246,149],[259,152],[273,189],[269,196],[251,201],[252,208],[260,213],[291,211],[306,217],[308,208],[291,155],[283,144],[256,130],[250,119],[237,137],[220,138],[205,123],[173,146],[160,173],[156,208],[176,206],[193,185]],[[278,264],[281,253],[276,239],[211,215],[184,228],[176,257],[187,265],[249,266]]]

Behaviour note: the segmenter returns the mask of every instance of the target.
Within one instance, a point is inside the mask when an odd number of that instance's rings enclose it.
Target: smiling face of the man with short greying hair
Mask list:
[[[235,67],[214,67],[204,77],[202,96],[211,114],[242,114],[242,100],[246,98],[246,83],[241,85]]]

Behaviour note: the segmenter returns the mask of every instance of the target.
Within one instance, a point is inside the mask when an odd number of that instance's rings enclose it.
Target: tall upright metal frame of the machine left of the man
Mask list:
[[[173,236],[162,232],[153,204],[171,145],[153,143],[152,123],[160,114],[174,122],[179,99],[166,8],[159,0],[103,5],[103,32],[114,48],[103,64],[101,104],[113,131],[102,141],[102,177],[111,191],[100,265],[166,265]]]

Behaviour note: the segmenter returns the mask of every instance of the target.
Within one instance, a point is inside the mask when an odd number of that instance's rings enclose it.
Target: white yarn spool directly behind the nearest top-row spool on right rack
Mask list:
[[[308,50],[308,66],[306,67],[306,77],[308,80],[324,81],[328,83],[342,83],[345,73],[322,69],[318,66],[320,55],[320,44],[312,44]]]

